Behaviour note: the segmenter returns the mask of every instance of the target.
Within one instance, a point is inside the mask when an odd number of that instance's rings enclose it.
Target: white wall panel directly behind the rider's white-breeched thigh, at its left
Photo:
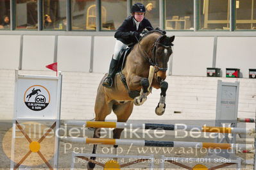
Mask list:
[[[93,72],[108,72],[108,67],[114,53],[115,40],[114,36],[94,37]]]

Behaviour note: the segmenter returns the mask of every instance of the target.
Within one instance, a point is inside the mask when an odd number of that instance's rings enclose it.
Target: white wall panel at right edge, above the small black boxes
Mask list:
[[[256,68],[256,37],[218,37],[216,67],[223,77],[226,68],[240,68],[243,77],[249,77],[249,68]]]

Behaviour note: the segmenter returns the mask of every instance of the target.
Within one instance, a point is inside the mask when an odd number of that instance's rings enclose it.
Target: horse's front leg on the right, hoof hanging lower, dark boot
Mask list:
[[[166,81],[160,82],[160,101],[158,102],[157,107],[155,108],[155,113],[158,116],[161,116],[164,114],[164,111],[166,111],[166,90],[168,88],[168,83]]]

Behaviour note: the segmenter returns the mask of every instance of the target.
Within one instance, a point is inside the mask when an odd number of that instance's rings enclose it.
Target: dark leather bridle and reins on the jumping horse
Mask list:
[[[165,36],[165,35],[162,35],[162,36]],[[164,45],[163,43],[160,43],[160,39],[162,38],[162,36],[159,36],[157,38],[157,40],[153,43],[153,45],[151,45],[151,49],[152,49],[151,50],[151,56],[153,56],[153,58],[149,58],[150,56],[147,54],[147,52],[144,49],[142,49],[144,54],[146,54],[146,56],[142,54],[143,58],[146,59],[151,66],[155,67],[155,73],[157,73],[158,71],[166,72],[166,70],[167,70],[167,67],[160,67],[158,65],[158,63],[156,61],[156,55],[155,55],[155,52],[157,50],[158,45],[164,47],[165,49],[171,47],[171,45]],[[141,43],[139,42],[139,51],[141,52],[140,46],[141,46]]]

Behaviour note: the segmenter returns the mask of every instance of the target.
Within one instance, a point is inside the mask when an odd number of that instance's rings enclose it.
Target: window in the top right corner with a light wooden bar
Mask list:
[[[256,0],[235,1],[235,29],[256,29]]]

